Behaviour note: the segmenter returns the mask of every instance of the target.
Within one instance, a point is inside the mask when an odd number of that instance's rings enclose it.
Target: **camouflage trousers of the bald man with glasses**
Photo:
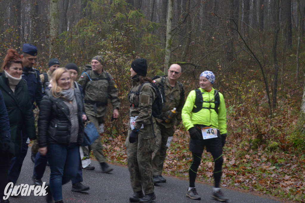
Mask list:
[[[165,128],[163,125],[157,124],[156,147],[152,158],[152,174],[154,176],[162,175],[163,164],[166,157],[167,146],[170,145],[170,138],[173,138],[174,129]]]

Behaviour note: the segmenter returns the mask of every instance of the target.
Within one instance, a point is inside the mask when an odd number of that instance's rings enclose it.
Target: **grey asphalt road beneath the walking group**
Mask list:
[[[129,172],[127,167],[111,165],[113,171],[111,174],[100,172],[100,166],[97,161],[92,161],[91,165],[95,166],[95,170],[83,170],[84,185],[90,186],[90,190],[87,193],[72,192],[71,182],[63,185],[63,201],[65,203],[89,203],[89,202],[116,202],[124,203],[129,202],[129,196],[133,193],[129,180]],[[33,185],[31,176],[33,174],[34,163],[30,160],[30,148],[27,153],[27,157],[24,160],[20,177],[16,185],[29,184]],[[48,182],[50,169],[47,167],[45,176],[42,181]],[[173,177],[166,177],[166,183],[158,184],[155,186],[156,200],[154,202],[169,202],[169,203],[184,203],[184,202],[209,202],[216,203],[219,201],[213,200],[210,195],[212,186],[196,183],[196,189],[201,200],[191,200],[186,197],[186,191],[188,189],[188,181],[180,180]],[[255,196],[248,193],[223,189],[223,193],[230,198],[228,202],[234,203],[275,203],[268,198]],[[36,203],[45,202],[45,197],[34,196],[32,192],[30,196],[18,196],[10,197],[11,203]]]

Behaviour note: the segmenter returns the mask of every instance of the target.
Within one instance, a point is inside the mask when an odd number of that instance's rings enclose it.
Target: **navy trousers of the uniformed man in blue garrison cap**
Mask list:
[[[21,172],[23,160],[27,156],[27,149],[29,148],[27,138],[26,130],[22,129],[20,155],[13,157],[9,164],[9,182],[13,182],[13,184],[16,184]]]

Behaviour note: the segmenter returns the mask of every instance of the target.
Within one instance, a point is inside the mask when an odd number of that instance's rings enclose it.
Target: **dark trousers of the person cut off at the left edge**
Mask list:
[[[0,151],[0,200],[3,200],[4,189],[9,183],[8,180],[9,170],[9,153],[2,154]]]

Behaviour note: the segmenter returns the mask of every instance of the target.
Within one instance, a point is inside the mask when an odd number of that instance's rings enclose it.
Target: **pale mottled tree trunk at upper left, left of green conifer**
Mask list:
[[[50,50],[49,58],[52,58],[59,52],[56,50],[56,39],[58,38],[59,25],[59,0],[50,1]]]

